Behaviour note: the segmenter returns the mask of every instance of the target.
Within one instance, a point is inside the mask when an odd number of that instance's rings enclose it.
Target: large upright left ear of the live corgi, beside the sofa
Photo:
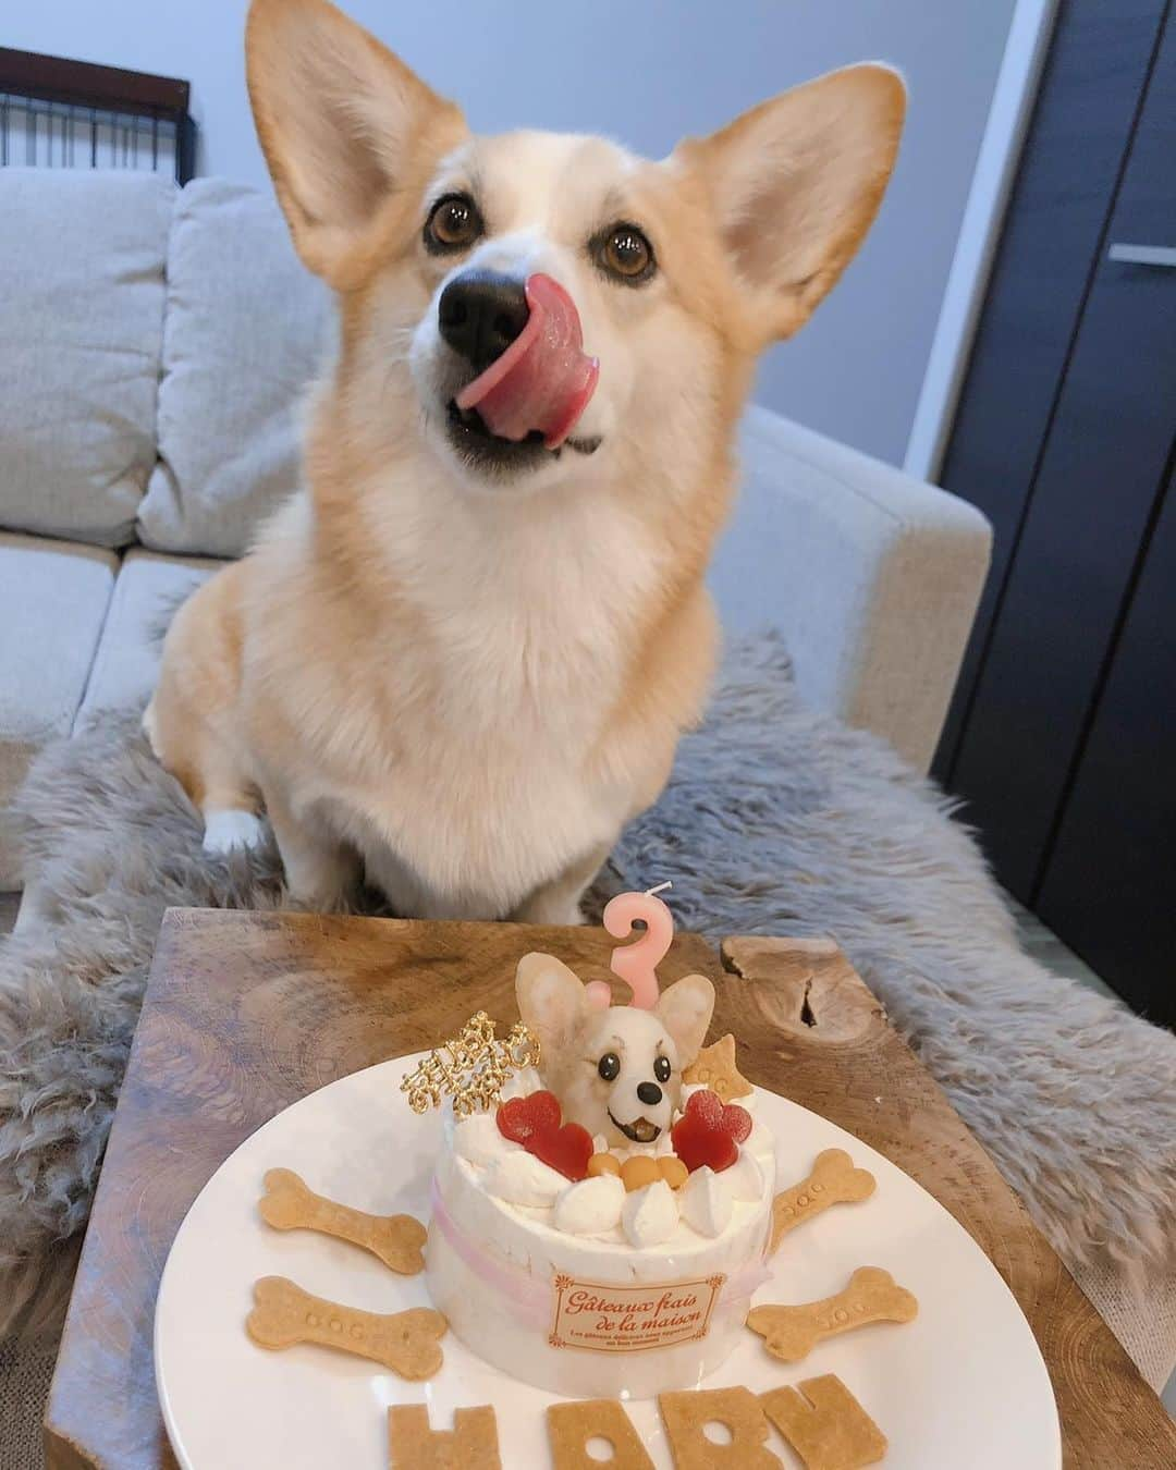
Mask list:
[[[245,60],[298,254],[344,285],[345,262],[406,172],[431,168],[465,135],[462,113],[326,0],[253,0]]]

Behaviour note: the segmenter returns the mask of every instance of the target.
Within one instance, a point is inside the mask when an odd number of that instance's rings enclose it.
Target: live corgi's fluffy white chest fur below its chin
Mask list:
[[[450,507],[438,564],[422,500],[381,537],[420,623],[381,629],[379,688],[357,691],[397,711],[387,775],[351,767],[319,788],[320,810],[395,906],[506,916],[632,810],[642,754],[604,763],[598,745],[657,553],[607,500],[560,516],[522,501],[509,535],[501,514],[454,531]]]

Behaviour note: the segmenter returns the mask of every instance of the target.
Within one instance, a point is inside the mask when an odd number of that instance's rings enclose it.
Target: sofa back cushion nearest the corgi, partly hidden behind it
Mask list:
[[[197,179],[168,251],[159,465],[140,538],[240,556],[297,485],[297,407],[331,340],[331,295],[294,254],[272,196]]]

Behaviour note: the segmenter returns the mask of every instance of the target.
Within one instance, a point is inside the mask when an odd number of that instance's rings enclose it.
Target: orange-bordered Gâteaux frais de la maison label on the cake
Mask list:
[[[556,1317],[547,1341],[553,1348],[589,1352],[648,1352],[698,1342],[710,1330],[710,1314],[725,1282],[720,1274],[617,1286],[556,1276]]]

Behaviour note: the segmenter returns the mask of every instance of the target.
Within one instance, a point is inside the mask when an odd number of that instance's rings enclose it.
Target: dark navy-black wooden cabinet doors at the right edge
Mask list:
[[[994,575],[936,756],[1005,886],[1176,1023],[1176,21],[1072,0],[942,482]]]

